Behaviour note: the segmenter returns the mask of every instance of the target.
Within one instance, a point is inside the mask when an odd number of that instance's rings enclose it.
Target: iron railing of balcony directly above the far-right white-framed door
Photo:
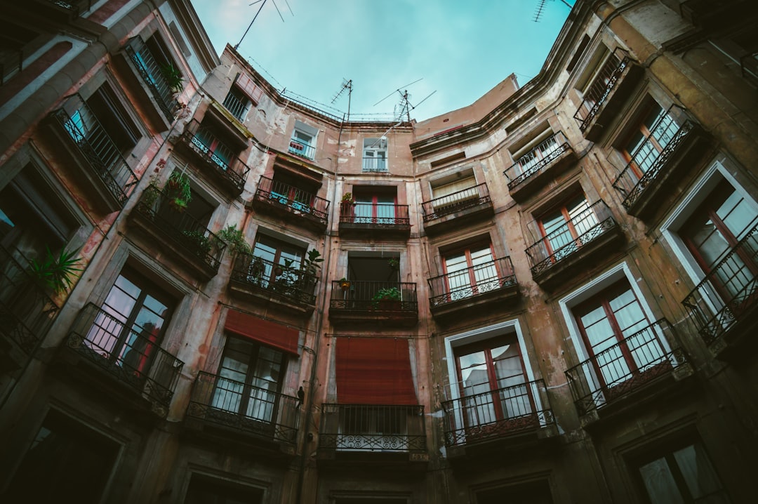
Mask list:
[[[679,126],[671,111],[669,108],[669,111],[653,124],[650,136],[630,153],[631,160],[613,181],[612,185],[624,198],[622,205],[627,210],[634,206],[645,189],[654,183],[681,142],[684,142],[696,127],[692,121],[684,121],[684,124]]]

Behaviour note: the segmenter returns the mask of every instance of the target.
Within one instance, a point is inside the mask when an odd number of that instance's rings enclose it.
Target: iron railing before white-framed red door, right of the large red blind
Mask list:
[[[442,402],[446,446],[509,437],[555,423],[543,380],[496,390],[487,390],[486,384],[460,385],[451,385],[455,398]]]

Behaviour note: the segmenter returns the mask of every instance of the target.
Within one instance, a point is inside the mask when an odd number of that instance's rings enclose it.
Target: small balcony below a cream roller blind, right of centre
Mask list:
[[[459,229],[463,222],[490,218],[495,214],[486,183],[421,203],[424,230],[428,234]]]

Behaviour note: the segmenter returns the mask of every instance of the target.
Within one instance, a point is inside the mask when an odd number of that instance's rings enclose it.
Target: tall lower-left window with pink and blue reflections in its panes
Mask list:
[[[83,344],[123,368],[128,379],[139,379],[152,365],[173,308],[174,299],[168,294],[142,274],[124,268]]]

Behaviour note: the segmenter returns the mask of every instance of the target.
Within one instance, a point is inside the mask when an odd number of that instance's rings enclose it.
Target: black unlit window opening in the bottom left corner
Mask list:
[[[2,495],[3,501],[102,502],[118,451],[117,443],[51,410]]]

